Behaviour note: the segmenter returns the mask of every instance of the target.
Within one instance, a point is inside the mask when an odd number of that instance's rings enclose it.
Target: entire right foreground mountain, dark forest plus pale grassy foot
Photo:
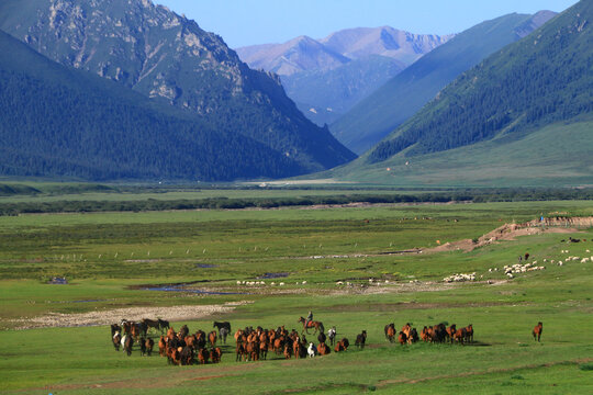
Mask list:
[[[469,179],[590,184],[591,21],[593,3],[580,1],[492,54],[336,174],[440,184]]]

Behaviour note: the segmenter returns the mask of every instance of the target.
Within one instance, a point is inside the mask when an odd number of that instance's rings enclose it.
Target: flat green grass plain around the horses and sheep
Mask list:
[[[436,247],[437,240],[478,238],[504,223],[541,214],[591,216],[593,205],[562,201],[0,217],[0,318],[5,329],[0,331],[0,392],[589,394],[593,263],[566,258],[593,256],[586,252],[593,250],[592,229],[524,236],[470,252],[394,253]],[[586,241],[561,241],[569,237]],[[489,271],[516,263],[526,251],[546,270],[510,281],[501,271]],[[551,259],[566,264],[551,264]],[[475,272],[478,281],[443,282],[460,272]],[[259,287],[236,284],[266,273],[287,276]],[[66,276],[69,284],[47,284],[52,276]],[[272,286],[272,281],[286,285]],[[171,283],[193,284],[188,292],[142,290]],[[234,294],[189,292],[195,289]],[[221,364],[170,366],[165,358],[141,357],[137,349],[132,357],[115,352],[107,326],[15,329],[51,313],[199,308],[239,301],[249,303],[172,325],[209,331],[212,320],[225,319],[233,329],[291,329],[312,309],[315,319],[326,328],[336,326],[338,337],[353,346],[313,360],[269,354],[268,361],[235,362],[230,341]],[[540,343],[530,336],[538,320],[544,321]],[[396,328],[412,323],[418,330],[440,321],[473,324],[477,341],[390,345],[383,327],[392,321]],[[362,329],[369,335],[367,348],[357,350],[354,339]]]

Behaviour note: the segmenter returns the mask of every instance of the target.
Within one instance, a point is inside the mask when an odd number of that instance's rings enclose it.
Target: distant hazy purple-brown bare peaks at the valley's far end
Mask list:
[[[278,74],[299,109],[323,125],[451,37],[358,27],[236,50],[250,67]]]

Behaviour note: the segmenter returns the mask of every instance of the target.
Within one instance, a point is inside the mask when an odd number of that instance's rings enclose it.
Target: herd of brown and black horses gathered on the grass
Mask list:
[[[262,327],[246,327],[238,329],[234,334],[235,338],[235,361],[258,361],[266,360],[268,352],[273,352],[277,356],[283,356],[286,359],[306,358],[316,356],[327,356],[332,352],[346,351],[350,346],[349,340],[344,337],[337,340],[336,327],[332,327],[325,334],[325,328],[321,321],[307,323],[301,317],[299,323],[303,324],[301,332],[292,329],[287,330],[284,326],[279,326],[276,329],[265,329]],[[139,346],[141,354],[150,357],[155,346],[154,339],[148,336],[149,329],[155,329],[160,334],[158,340],[158,352],[160,357],[167,357],[169,364],[175,365],[191,365],[194,363],[205,364],[219,363],[222,358],[222,350],[216,347],[217,340],[222,340],[226,345],[226,337],[231,334],[231,323],[214,321],[213,328],[209,334],[199,329],[194,334],[190,334],[187,325],[183,325],[179,331],[176,331],[169,321],[157,319],[143,319],[134,323],[123,319],[119,325],[111,325],[111,339],[115,350],[123,348],[127,356],[132,354],[134,343]],[[310,329],[312,334],[317,335],[317,345],[310,342],[306,335]],[[534,340],[540,341],[544,325],[538,323],[532,334]],[[166,331],[166,334],[165,334]],[[424,326],[418,334],[416,328],[411,324],[405,324],[398,332],[395,324],[391,323],[384,327],[385,339],[389,342],[399,341],[401,346],[412,345],[419,340],[424,342],[450,342],[450,343],[472,343],[473,342],[473,325],[457,328],[456,324],[446,326],[437,324],[433,326]],[[327,342],[329,345],[327,345]],[[367,331],[362,330],[356,337],[355,346],[363,349],[367,342]]]

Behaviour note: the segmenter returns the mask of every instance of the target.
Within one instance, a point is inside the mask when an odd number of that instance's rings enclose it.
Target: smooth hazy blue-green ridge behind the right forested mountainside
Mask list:
[[[458,34],[351,108],[331,125],[332,133],[354,151],[365,153],[461,72],[533,32],[553,15],[550,11],[535,15],[508,14]]]

